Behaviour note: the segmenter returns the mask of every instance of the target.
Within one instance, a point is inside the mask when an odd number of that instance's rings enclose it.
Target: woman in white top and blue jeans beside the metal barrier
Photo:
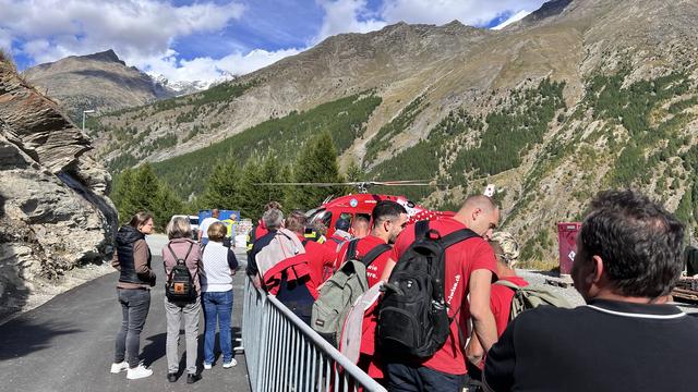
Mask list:
[[[204,369],[209,370],[215,360],[216,324],[219,330],[222,367],[238,364],[232,357],[230,319],[232,317],[232,275],[238,269],[238,259],[229,247],[222,244],[226,226],[214,222],[208,228],[208,244],[202,250],[201,273],[202,303],[204,306]]]

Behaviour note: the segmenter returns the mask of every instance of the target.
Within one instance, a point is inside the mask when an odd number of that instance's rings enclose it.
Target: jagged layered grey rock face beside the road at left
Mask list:
[[[110,176],[91,140],[0,54],[0,318],[111,252]]]

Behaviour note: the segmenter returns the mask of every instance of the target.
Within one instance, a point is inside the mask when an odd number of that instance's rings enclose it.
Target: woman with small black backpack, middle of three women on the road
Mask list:
[[[169,243],[163,248],[165,266],[165,314],[167,317],[167,380],[176,382],[179,373],[179,331],[184,319],[186,339],[186,383],[201,379],[196,369],[198,354],[198,313],[201,310],[201,247],[191,240],[188,218],[173,218],[167,225]]]

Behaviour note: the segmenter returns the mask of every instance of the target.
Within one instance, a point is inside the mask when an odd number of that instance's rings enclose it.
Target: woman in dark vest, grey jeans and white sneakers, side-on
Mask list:
[[[127,378],[135,380],[153,375],[139,362],[141,331],[151,307],[151,287],[155,273],[151,269],[151,249],[145,235],[153,231],[153,216],[139,212],[117,233],[117,252],[111,265],[121,273],[117,293],[121,304],[121,330],[117,334],[111,372],[128,370]]]

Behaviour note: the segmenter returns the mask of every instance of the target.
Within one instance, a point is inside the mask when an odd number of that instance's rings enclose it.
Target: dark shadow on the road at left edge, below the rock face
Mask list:
[[[5,360],[48,348],[53,339],[82,330],[61,323],[36,326],[17,318],[2,326],[0,332],[0,360]]]

